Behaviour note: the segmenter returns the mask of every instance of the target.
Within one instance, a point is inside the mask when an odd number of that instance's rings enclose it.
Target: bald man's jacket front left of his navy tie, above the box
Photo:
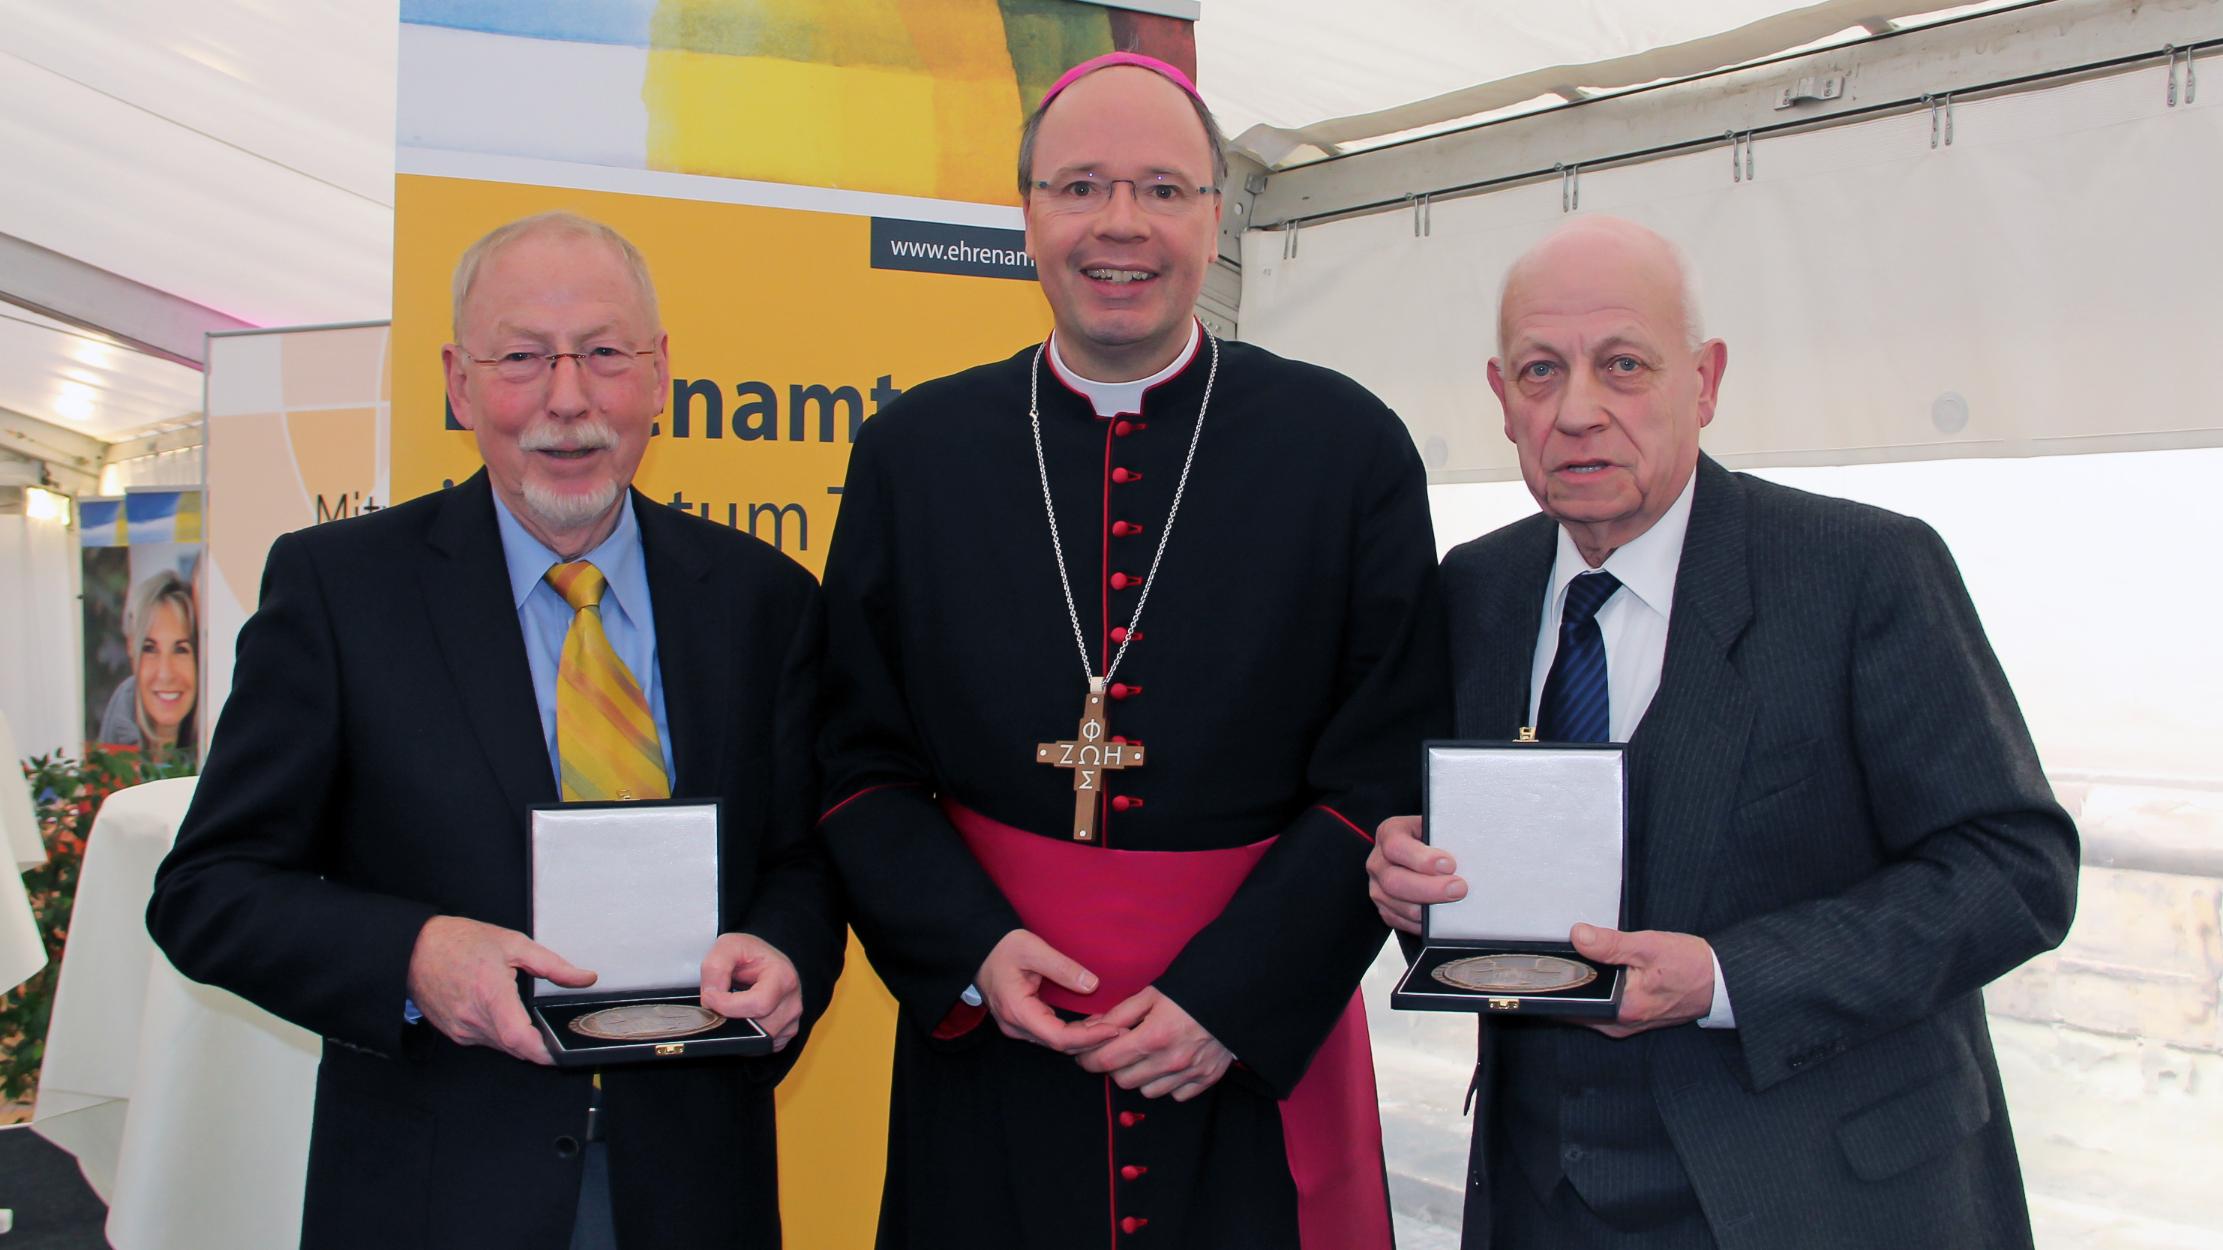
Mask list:
[[[1452,645],[1463,652],[1452,665],[1463,738],[1512,738],[1527,725],[1529,667],[1556,543],[1558,527],[1538,514],[1507,536],[1498,563],[1463,569],[1445,583]]]

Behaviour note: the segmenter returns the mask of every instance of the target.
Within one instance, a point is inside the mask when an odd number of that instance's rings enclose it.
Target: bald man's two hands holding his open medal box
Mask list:
[[[1389,816],[1374,830],[1367,896],[1385,925],[1418,934],[1420,907],[1465,899],[1467,883],[1452,852],[1420,841],[1420,816]],[[1683,1025],[1714,1008],[1714,948],[1701,936],[1598,925],[1574,925],[1567,936],[1583,959],[1627,970],[1621,1014],[1583,1021],[1605,1036]]]

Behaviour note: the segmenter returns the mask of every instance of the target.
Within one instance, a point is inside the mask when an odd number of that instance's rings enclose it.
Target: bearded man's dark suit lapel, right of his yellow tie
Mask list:
[[[649,601],[656,614],[656,667],[665,683],[665,721],[671,727],[674,796],[716,794],[727,754],[725,727],[734,698],[734,647],[740,645],[736,605],[714,594],[711,560],[687,516],[634,492],[634,518],[649,563]]]

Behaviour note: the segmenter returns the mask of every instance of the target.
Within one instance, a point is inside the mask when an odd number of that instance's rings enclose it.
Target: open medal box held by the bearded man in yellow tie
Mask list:
[[[669,1039],[571,1030],[605,1008],[702,1005],[702,956],[727,925],[718,803],[545,803],[529,821],[534,941],[598,974],[585,990],[531,979],[525,1010],[558,1068],[771,1052],[756,1021]]]

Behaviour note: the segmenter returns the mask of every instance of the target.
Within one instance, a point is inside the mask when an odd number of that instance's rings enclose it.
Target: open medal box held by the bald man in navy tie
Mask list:
[[[1623,968],[1574,952],[1581,921],[1623,927],[1629,783],[1621,743],[1425,743],[1420,836],[1458,861],[1467,896],[1420,912],[1420,954],[1389,994],[1414,1012],[1612,1019]],[[1485,954],[1589,968],[1565,990],[1467,990],[1436,976]],[[1518,959],[1514,963],[1521,963]]]

